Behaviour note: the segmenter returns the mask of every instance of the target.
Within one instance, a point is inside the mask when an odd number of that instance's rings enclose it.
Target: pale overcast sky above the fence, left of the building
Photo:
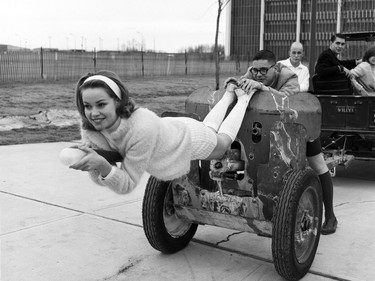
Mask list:
[[[213,45],[217,0],[5,0],[0,44],[178,52]],[[224,42],[226,10],[220,21]]]

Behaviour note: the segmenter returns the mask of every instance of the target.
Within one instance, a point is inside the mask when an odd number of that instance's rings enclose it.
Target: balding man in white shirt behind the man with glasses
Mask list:
[[[290,46],[289,58],[281,60],[279,63],[287,66],[298,76],[298,83],[301,92],[307,92],[309,89],[310,73],[309,69],[301,63],[303,58],[303,46],[300,42],[294,42]]]

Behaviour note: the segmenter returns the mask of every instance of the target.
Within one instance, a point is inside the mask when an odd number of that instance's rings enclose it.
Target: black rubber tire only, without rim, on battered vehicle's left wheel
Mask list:
[[[150,245],[164,254],[173,254],[184,249],[195,235],[198,225],[188,221],[188,229],[179,237],[169,234],[165,226],[163,211],[166,200],[173,206],[171,182],[160,181],[150,176],[142,204],[143,230]],[[169,198],[167,198],[169,197]],[[177,216],[176,216],[176,219]]]

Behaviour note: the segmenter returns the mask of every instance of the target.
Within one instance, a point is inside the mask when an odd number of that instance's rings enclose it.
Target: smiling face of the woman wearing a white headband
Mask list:
[[[82,91],[85,116],[98,131],[116,129],[120,118],[116,113],[116,101],[104,88],[88,88]]]

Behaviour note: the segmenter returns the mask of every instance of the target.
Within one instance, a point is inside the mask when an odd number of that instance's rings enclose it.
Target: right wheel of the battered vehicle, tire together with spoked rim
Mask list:
[[[277,272],[299,280],[309,271],[319,244],[322,191],[310,169],[285,175],[272,229],[272,255]]]

